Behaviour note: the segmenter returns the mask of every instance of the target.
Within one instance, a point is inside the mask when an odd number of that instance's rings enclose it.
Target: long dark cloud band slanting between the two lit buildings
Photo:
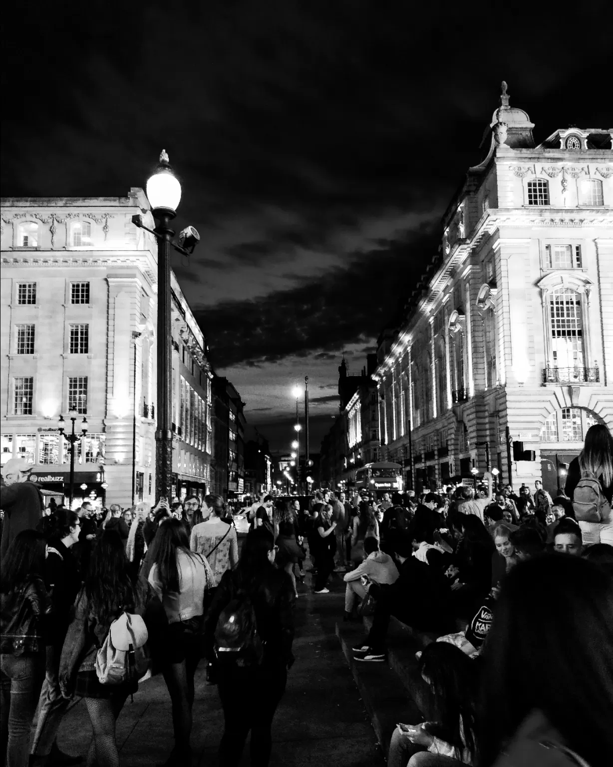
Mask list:
[[[406,235],[404,242],[337,268],[325,280],[196,311],[214,364],[262,364],[316,350],[323,350],[316,359],[337,359],[342,344],[377,335],[397,302],[397,285],[410,290],[420,277],[416,264],[435,248],[431,232]]]

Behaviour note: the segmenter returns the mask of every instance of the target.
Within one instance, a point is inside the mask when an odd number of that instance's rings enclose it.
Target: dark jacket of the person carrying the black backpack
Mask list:
[[[258,633],[264,644],[265,665],[291,667],[294,663],[292,642],[294,640],[295,594],[289,575],[272,565],[264,568],[255,578],[247,579],[242,569],[226,570],[216,589],[213,603],[206,615],[204,648],[206,659],[214,663],[215,630],[224,607],[245,589],[255,611]]]

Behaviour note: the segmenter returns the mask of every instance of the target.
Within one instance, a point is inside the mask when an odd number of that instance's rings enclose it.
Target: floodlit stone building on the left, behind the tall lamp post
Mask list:
[[[25,458],[59,497],[68,495],[70,459],[58,416],[74,408],[88,428],[76,446],[75,496],[85,484],[84,495],[107,505],[153,500],[157,244],[132,223],[143,211],[153,228],[142,189],[2,199],[0,456]],[[203,493],[213,374],[174,275],[172,291],[173,468],[178,493]]]

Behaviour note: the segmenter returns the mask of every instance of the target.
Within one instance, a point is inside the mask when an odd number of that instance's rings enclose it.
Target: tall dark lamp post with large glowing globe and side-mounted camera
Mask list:
[[[176,216],[181,200],[181,184],[170,167],[166,150],[160,162],[147,179],[147,199],[151,206],[155,229],[143,224],[143,216],[132,216],[134,225],[146,229],[157,238],[157,430],[156,430],[156,495],[172,497],[173,431],[172,431],[172,330],[170,327],[170,246],[191,255],[200,235],[193,226],[183,229],[179,242],[174,242],[170,222]]]

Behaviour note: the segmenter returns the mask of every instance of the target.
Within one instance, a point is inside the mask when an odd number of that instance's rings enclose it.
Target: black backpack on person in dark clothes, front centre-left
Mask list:
[[[220,663],[236,663],[240,667],[262,664],[264,643],[258,633],[253,602],[244,589],[236,592],[219,615],[215,653]]]

